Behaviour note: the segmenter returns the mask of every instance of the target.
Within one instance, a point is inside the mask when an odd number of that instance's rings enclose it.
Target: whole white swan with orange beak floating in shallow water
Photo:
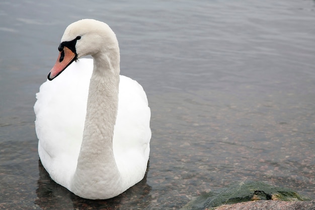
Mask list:
[[[50,177],[74,194],[115,197],[146,171],[151,138],[146,94],[119,75],[118,41],[106,23],[70,24],[58,50],[34,105],[39,158]],[[78,60],[85,55],[93,59]]]

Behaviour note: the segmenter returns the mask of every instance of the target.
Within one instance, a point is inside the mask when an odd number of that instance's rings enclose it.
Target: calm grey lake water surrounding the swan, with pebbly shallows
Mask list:
[[[179,209],[244,180],[315,199],[314,1],[15,0],[0,17],[0,209]],[[35,93],[82,18],[115,31],[152,112],[147,176],[109,200],[57,185],[37,154]]]

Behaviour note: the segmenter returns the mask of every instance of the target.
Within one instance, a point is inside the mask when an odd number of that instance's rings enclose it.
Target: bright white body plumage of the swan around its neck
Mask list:
[[[74,174],[78,173],[76,167],[85,129],[92,72],[93,59],[81,58],[70,64],[54,80],[43,83],[36,94],[35,125],[41,162],[51,178],[70,191],[75,191],[72,190],[74,188],[72,179]],[[83,192],[75,191],[82,197],[92,199],[114,197],[139,182],[144,176],[151,137],[147,98],[136,81],[124,76],[120,76],[118,98],[113,153],[120,172],[121,186],[115,183],[112,187],[119,190],[110,191],[104,187],[106,185],[100,183],[99,187],[96,187],[98,189],[87,187],[84,191],[81,190]],[[102,160],[91,161],[96,162],[97,167],[102,167],[103,163],[97,163]],[[93,173],[102,173],[97,167],[93,169],[95,170]],[[87,177],[87,180],[92,182],[93,177]],[[95,192],[89,190],[97,190],[99,194],[95,195]],[[107,190],[109,192],[102,192]]]

